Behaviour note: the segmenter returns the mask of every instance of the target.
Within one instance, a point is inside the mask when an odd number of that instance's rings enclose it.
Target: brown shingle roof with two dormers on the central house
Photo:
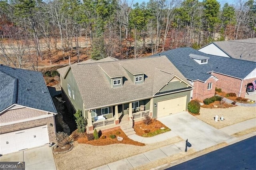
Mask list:
[[[165,56],[76,64],[70,65],[70,69],[86,109],[152,97],[174,75],[188,83]],[[134,85],[126,69],[132,73],[145,73],[144,83]],[[112,88],[104,72],[111,73],[112,77],[124,76],[123,86]]]

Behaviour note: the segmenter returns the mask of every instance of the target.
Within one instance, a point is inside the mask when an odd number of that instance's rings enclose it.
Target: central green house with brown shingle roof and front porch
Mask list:
[[[88,132],[186,111],[193,88],[165,56],[108,57],[58,71],[63,98],[82,110]]]

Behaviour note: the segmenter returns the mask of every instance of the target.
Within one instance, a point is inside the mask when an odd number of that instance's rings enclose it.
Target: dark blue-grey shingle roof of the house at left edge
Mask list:
[[[0,65],[0,111],[18,104],[57,113],[41,72]]]

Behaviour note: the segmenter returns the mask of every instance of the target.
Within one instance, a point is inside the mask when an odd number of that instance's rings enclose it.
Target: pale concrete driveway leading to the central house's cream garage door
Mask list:
[[[234,138],[200,121],[188,112],[162,117],[158,121],[169,127],[172,132],[184,140],[188,139],[188,142],[192,144],[196,151]]]

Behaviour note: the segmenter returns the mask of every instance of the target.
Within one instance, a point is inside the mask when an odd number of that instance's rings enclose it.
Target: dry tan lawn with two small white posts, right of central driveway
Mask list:
[[[229,125],[233,125],[236,123],[240,123],[249,119],[253,119],[256,117],[255,114],[256,107],[244,107],[244,106],[236,106],[230,107],[226,109],[200,109],[200,115],[196,117],[205,123],[219,129]],[[218,122],[214,121],[214,117],[218,115],[218,117],[223,116],[224,121],[218,120]]]

